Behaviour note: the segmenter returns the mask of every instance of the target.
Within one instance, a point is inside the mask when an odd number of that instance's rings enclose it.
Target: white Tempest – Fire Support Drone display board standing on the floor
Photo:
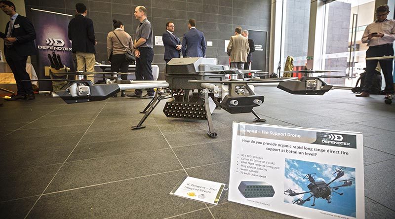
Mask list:
[[[363,219],[362,134],[234,122],[229,201],[298,218]]]

